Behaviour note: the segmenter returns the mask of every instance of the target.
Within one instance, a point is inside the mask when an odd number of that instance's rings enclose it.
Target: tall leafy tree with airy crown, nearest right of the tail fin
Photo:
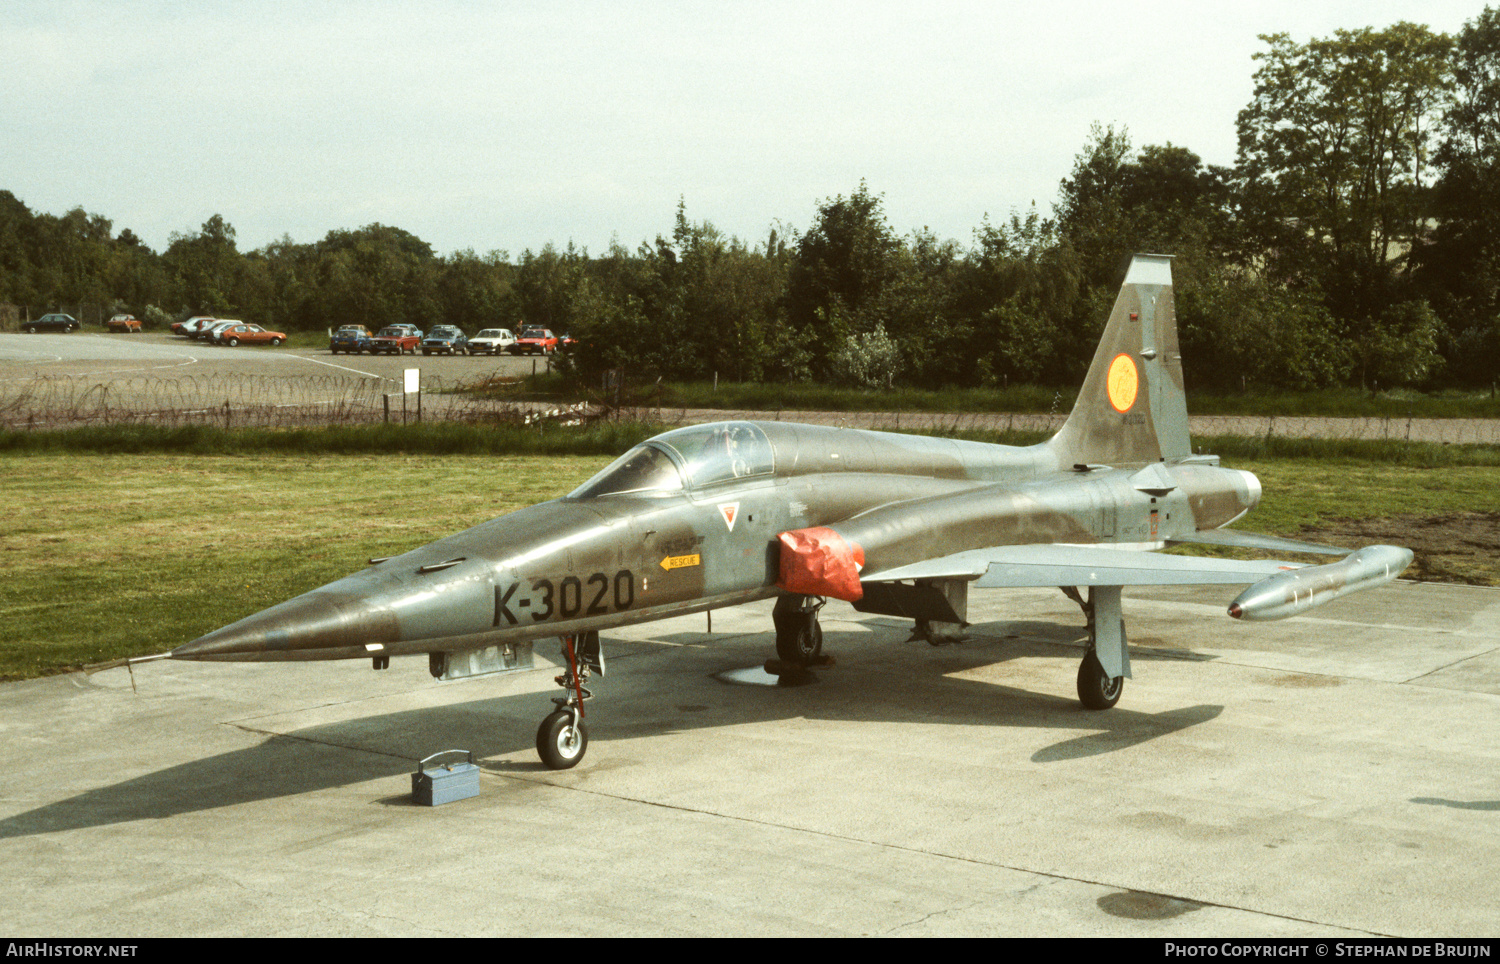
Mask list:
[[[1422,232],[1452,42],[1408,22],[1262,40],[1238,121],[1245,225],[1278,277],[1322,288],[1335,316],[1368,325]]]

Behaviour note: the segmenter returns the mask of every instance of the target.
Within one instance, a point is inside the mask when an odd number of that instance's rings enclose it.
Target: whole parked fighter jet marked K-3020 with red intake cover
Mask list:
[[[774,597],[768,669],[795,675],[826,660],[828,598],[909,618],[938,642],[962,633],[970,588],[1059,586],[1089,625],[1078,699],[1107,709],[1131,675],[1122,586],[1252,583],[1228,615],[1280,619],[1390,582],[1412,561],[1394,546],[1350,553],[1222,528],[1258,501],[1254,475],[1192,454],[1172,262],[1137,255],[1077,405],[1040,445],[756,421],[676,429],[560,499],[372,559],[154,658],[382,669],[426,654],[452,679],[530,667],[532,640],[561,637],[566,696],[537,748],[568,768],[588,745],[584,684],[604,669],[600,631]],[[1142,552],[1176,543],[1342,559]]]

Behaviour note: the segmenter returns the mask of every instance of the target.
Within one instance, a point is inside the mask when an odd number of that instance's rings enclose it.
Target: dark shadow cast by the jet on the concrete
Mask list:
[[[1130,685],[1120,706],[1089,712],[1071,696],[956,678],[954,673],[1022,657],[1056,657],[1058,643],[1080,637],[1077,627],[1059,624],[1004,625],[1010,639],[936,648],[924,642],[884,645],[890,642],[884,631],[882,645],[867,646],[861,643],[872,642],[870,633],[843,633],[831,627],[825,648],[836,654],[837,666],[816,670],[816,685],[792,688],[729,685],[714,678],[724,670],[759,666],[772,649],[770,634],[724,639],[686,634],[684,639],[706,642],[706,646],[622,655],[610,661],[609,676],[594,687],[600,697],[588,705],[594,756],[580,769],[602,763],[610,739],[796,718],[1072,733],[1032,754],[1034,763],[1047,765],[1137,747],[1222,712],[1222,706],[1212,705],[1158,714],[1134,711],[1128,706]],[[902,624],[903,631],[908,627]],[[1164,658],[1180,655],[1172,652]],[[1156,657],[1143,651],[1132,652],[1131,658],[1140,663]],[[640,676],[632,681],[632,664],[642,666],[645,660],[657,661],[652,678],[670,685],[642,690]],[[674,661],[681,664],[678,672],[672,672]],[[663,669],[668,672],[662,673]],[[1068,672],[1071,682],[1071,669]],[[550,696],[548,691],[486,697],[272,735],[254,747],[144,774],[3,819],[0,838],[158,820],[405,777],[416,769],[417,760],[450,747],[472,750],[482,768],[492,774],[546,777],[552,771],[534,759],[495,757],[534,753],[536,724],[550,709]],[[402,801],[402,796],[387,795],[372,802]]]

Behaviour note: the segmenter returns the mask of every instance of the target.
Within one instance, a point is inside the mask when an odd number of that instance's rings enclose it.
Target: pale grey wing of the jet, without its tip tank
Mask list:
[[[861,574],[861,582],[968,579],[980,589],[1006,586],[1246,585],[1300,562],[1164,556],[1100,546],[996,546]]]

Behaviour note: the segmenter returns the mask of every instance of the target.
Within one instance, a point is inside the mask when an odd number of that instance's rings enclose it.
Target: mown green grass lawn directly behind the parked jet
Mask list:
[[[0,679],[162,652],[364,565],[562,495],[609,456],[0,454]],[[1500,513],[1500,469],[1232,459],[1242,528]],[[1452,577],[1500,585],[1496,553]]]

